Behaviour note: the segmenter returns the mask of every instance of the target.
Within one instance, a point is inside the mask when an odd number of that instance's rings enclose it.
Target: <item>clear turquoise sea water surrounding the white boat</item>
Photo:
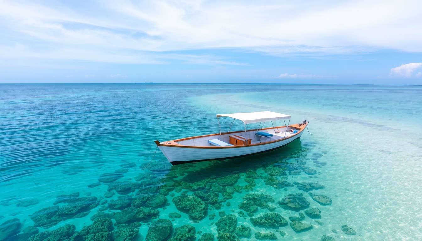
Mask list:
[[[0,224],[5,223],[0,241],[193,241],[205,238],[204,233],[219,241],[257,240],[257,232],[298,241],[323,235],[421,240],[421,96],[417,86],[0,85]],[[264,110],[290,114],[291,123],[308,119],[312,135],[306,132],[283,149],[259,156],[171,166],[157,151],[150,163],[154,140],[216,133],[217,113]],[[222,122],[228,129],[229,121]],[[282,181],[291,186],[277,185]],[[308,191],[300,188],[303,182],[323,188]],[[205,192],[206,197],[201,195]],[[309,192],[329,197],[332,204],[319,204]],[[258,196],[257,209],[241,205],[251,200],[251,193]],[[290,210],[279,204],[297,193],[308,207]],[[181,204],[178,196],[195,202]],[[119,200],[129,201],[119,206]],[[197,214],[193,218],[181,205],[205,208],[191,210]],[[296,233],[289,217],[313,208],[321,218],[305,215],[300,222],[312,229]],[[140,217],[140,209],[148,217]],[[233,230],[218,234],[222,211],[227,215],[223,221],[234,216],[234,226],[249,227],[251,236],[235,236]],[[170,218],[173,212],[181,217]],[[284,217],[287,226],[254,221],[271,212]],[[112,225],[106,230],[92,225],[92,220],[109,219]],[[147,233],[154,232],[158,219],[168,219],[172,228],[168,236],[154,239]],[[72,225],[74,230],[61,232],[61,238],[47,232]],[[180,238],[177,228],[183,225],[195,227],[195,235],[191,230]],[[343,225],[356,234],[346,234]]]

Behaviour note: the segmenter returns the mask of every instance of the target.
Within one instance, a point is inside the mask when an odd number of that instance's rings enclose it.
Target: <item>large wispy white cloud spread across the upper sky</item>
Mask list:
[[[418,52],[419,6],[420,0],[87,0],[83,5],[2,0],[0,41],[24,46],[22,58],[122,63],[160,63],[141,51],[209,48],[273,55],[385,48]],[[0,52],[10,46],[0,46]]]

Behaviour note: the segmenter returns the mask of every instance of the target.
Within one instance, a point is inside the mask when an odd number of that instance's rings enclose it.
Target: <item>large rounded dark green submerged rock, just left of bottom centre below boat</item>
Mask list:
[[[207,205],[197,196],[180,195],[173,198],[173,203],[179,211],[189,214],[189,219],[199,221],[206,217]]]

